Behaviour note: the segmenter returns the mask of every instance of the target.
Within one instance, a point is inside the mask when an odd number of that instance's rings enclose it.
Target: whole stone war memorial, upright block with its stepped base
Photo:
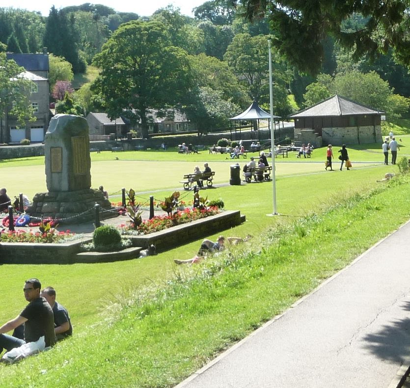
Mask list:
[[[88,124],[83,117],[55,115],[44,137],[44,154],[48,192],[34,196],[27,214],[73,223],[94,219],[96,203],[111,208],[103,193],[91,188]],[[101,218],[116,215],[107,212]]]

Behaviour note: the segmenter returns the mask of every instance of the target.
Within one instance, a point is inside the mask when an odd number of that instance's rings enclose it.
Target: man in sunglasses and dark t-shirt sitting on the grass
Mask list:
[[[44,336],[46,348],[55,344],[53,310],[46,299],[40,296],[40,291],[41,283],[38,279],[26,280],[23,292],[29,303],[16,318],[0,327],[0,353],[3,348],[10,351],[25,343],[36,342],[41,336]],[[24,339],[4,334],[22,324]]]

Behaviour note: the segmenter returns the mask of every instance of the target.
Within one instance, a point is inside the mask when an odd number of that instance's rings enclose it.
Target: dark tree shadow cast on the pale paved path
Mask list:
[[[410,301],[403,302],[403,310],[410,311]],[[410,355],[410,318],[396,319],[391,325],[363,338],[366,349],[383,360],[403,362]]]

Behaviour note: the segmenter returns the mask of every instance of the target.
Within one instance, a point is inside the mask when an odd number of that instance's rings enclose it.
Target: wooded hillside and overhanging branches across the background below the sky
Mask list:
[[[0,8],[0,42],[9,52],[47,47],[59,111],[76,105],[83,114],[123,114],[140,120],[145,135],[148,109],[166,114],[178,108],[198,131],[226,127],[252,99],[269,110],[268,39],[275,115],[292,113],[289,95],[302,108],[334,93],[384,110],[388,118],[406,115],[405,3],[332,4],[211,0],[196,7],[193,18],[171,5],[150,17],[90,3],[52,7],[48,17]],[[90,65],[99,76],[74,90],[73,77]]]

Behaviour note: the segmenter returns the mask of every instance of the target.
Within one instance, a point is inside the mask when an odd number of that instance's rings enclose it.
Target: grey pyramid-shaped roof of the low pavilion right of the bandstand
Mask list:
[[[355,114],[382,114],[381,110],[375,110],[369,106],[355,103],[345,97],[335,94],[309,108],[300,110],[288,117],[312,117],[312,116],[347,116]]]

